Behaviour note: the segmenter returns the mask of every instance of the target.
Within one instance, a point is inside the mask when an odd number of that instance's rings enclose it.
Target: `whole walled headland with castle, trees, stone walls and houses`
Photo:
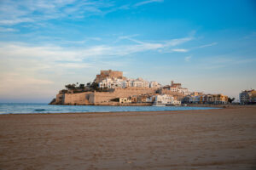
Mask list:
[[[122,71],[101,71],[93,82],[67,84],[49,105],[225,105],[230,100],[224,94],[189,92],[181,83],[170,85],[131,79]]]

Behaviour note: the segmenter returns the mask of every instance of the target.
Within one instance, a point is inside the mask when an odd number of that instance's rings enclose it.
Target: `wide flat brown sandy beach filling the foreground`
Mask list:
[[[0,169],[256,169],[256,107],[0,116]]]

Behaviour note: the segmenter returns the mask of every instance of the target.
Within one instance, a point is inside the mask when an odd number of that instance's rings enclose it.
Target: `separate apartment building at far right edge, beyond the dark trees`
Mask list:
[[[256,90],[244,90],[239,94],[240,104],[256,104]]]

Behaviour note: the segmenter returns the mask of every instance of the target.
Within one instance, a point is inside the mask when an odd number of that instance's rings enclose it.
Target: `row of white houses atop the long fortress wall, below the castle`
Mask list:
[[[143,80],[143,78],[137,79],[119,79],[116,77],[105,78],[98,83],[99,88],[159,88],[160,83],[158,82],[148,82]]]

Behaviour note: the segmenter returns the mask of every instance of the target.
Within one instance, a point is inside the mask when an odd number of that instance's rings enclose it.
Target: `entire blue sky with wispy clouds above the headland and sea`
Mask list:
[[[0,1],[0,102],[48,103],[108,69],[238,99],[256,88],[256,1]]]

